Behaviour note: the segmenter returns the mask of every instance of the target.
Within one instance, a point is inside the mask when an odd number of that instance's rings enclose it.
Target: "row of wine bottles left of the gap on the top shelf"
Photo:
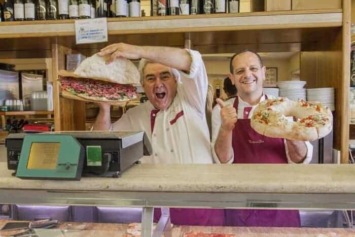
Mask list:
[[[0,16],[0,21],[139,17],[140,0],[5,0]]]

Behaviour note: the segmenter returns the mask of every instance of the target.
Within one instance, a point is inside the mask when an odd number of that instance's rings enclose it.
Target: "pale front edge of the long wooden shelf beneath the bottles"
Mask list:
[[[108,19],[109,35],[341,25],[342,11],[339,9]],[[75,36],[75,24],[74,20],[1,22],[0,32],[3,39]]]

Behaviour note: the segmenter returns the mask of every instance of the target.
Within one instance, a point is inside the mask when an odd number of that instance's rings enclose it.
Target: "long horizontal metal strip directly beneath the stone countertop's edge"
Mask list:
[[[355,194],[44,191],[0,189],[4,204],[228,209],[355,209]]]

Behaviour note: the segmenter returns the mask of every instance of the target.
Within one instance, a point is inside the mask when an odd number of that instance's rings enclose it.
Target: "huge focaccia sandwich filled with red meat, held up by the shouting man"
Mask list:
[[[63,97],[91,102],[122,105],[137,98],[139,72],[128,59],[119,58],[105,64],[96,54],[86,58],[74,73],[60,71],[58,82]]]

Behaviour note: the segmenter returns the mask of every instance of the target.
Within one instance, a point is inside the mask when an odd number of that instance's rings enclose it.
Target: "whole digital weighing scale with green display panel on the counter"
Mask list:
[[[152,153],[144,131],[12,133],[6,147],[8,169],[21,179],[117,178]]]

